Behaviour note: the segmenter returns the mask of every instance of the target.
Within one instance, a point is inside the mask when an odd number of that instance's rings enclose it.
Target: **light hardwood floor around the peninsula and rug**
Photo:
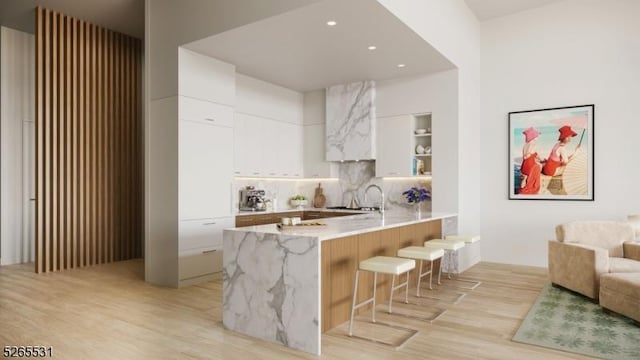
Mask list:
[[[142,281],[143,267],[141,260],[47,274],[32,264],[0,267],[0,345],[52,346],[58,359],[317,358],[224,330],[222,281],[161,288]],[[464,275],[483,283],[459,304],[434,303],[448,311],[433,324],[378,313],[420,330],[403,348],[348,338],[343,324],[323,335],[322,358],[585,358],[510,340],[547,281],[545,269],[480,263]],[[368,327],[358,322],[356,332]]]

